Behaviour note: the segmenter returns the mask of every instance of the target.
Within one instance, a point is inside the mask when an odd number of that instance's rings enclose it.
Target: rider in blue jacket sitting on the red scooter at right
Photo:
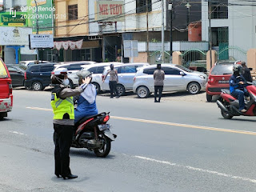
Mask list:
[[[230,77],[230,93],[239,101],[239,110],[246,112],[244,95],[249,96],[246,90],[246,79],[242,77],[242,66],[235,64],[233,66],[233,75]]]

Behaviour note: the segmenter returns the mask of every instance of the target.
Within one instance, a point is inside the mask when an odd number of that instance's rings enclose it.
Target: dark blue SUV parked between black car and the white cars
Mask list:
[[[44,90],[51,83],[51,72],[56,63],[45,63],[29,66],[25,74],[25,87],[33,90]]]

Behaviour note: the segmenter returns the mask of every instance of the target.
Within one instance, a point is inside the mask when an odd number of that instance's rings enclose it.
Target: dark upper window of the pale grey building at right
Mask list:
[[[228,18],[228,0],[210,2],[211,18]]]

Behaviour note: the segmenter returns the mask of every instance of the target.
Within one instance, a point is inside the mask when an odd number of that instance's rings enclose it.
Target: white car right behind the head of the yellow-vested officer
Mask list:
[[[70,78],[70,86],[73,88],[78,85],[78,75],[76,74],[79,70],[82,70],[83,65],[94,64],[95,62],[91,61],[78,61],[78,62],[60,62],[55,65],[54,70],[57,70],[60,67],[67,69],[67,77]]]

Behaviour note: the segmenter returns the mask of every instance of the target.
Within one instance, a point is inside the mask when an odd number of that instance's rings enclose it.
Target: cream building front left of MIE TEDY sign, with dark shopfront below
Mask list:
[[[90,1],[55,0],[54,50],[45,50],[44,58],[53,62],[101,62],[102,48],[99,40],[89,38]]]

